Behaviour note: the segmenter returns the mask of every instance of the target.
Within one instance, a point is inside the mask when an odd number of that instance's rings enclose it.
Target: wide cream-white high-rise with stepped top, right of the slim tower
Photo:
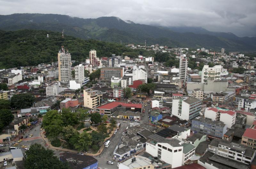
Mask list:
[[[215,65],[209,68],[209,65],[204,65],[202,70],[201,82],[206,83],[207,79],[220,80],[221,65]]]

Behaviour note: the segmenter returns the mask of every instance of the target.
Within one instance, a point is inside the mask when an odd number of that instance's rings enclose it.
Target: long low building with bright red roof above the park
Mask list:
[[[141,104],[132,104],[132,103],[124,103],[124,102],[117,102],[113,101],[108,104],[99,106],[95,108],[95,111],[100,114],[111,115],[113,114],[117,107],[123,107],[125,111],[132,111],[132,112],[140,112],[141,113]]]

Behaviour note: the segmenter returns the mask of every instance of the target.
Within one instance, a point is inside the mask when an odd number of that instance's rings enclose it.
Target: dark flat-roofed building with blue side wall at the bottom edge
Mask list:
[[[60,161],[67,162],[70,168],[98,169],[98,160],[92,156],[67,152],[60,154]]]

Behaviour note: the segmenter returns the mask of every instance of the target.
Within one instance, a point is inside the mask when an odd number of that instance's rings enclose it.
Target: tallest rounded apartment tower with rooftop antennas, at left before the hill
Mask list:
[[[65,51],[64,46],[58,53],[59,81],[69,82],[71,80],[71,55],[68,50]]]

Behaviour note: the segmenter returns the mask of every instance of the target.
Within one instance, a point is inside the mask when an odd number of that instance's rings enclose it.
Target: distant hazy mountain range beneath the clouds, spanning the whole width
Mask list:
[[[220,51],[256,51],[256,37],[238,37],[233,33],[211,32],[201,27],[161,27],[136,24],[117,17],[76,18],[59,14],[0,15],[0,29],[61,32],[81,39],[123,44],[159,44],[168,47],[208,48]]]

